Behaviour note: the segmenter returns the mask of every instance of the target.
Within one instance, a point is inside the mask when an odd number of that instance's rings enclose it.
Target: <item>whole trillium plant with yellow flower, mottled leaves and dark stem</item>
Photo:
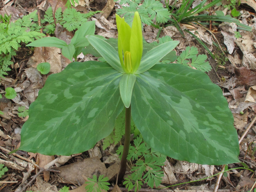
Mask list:
[[[178,41],[143,53],[138,12],[132,27],[116,15],[118,52],[87,35],[106,62],[72,62],[48,77],[21,131],[19,150],[71,155],[94,147],[126,108],[120,177],[130,145],[130,120],[154,150],[177,160],[221,165],[239,162],[233,116],[221,89],[182,64],[160,64]]]

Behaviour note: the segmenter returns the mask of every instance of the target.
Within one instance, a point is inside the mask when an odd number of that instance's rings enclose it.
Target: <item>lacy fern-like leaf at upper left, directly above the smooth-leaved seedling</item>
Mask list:
[[[78,29],[84,22],[88,21],[88,18],[93,16],[94,14],[98,13],[100,11],[90,11],[86,14],[80,13],[76,11],[74,8],[66,8],[62,14],[62,10],[59,7],[55,12],[55,19],[56,23],[61,24],[63,27],[65,27],[68,31],[76,30]],[[31,30],[40,30],[40,28],[43,28],[43,31],[49,34],[54,34],[55,30],[55,23],[53,18],[53,12],[52,7],[49,7],[44,15],[44,19],[41,19],[41,24],[43,26],[38,26],[38,16],[35,16],[33,18],[34,22],[31,25]]]

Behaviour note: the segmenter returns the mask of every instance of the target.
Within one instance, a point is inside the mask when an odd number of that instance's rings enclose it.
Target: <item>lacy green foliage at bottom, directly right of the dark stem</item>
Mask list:
[[[120,157],[122,156],[123,148],[123,146],[120,146],[117,150],[117,154],[120,154]],[[137,184],[138,190],[140,190],[141,180],[144,180],[144,183],[148,183],[151,188],[153,188],[154,183],[156,187],[160,185],[164,176],[161,166],[164,165],[166,156],[154,151],[150,146],[142,142],[142,138],[136,138],[134,139],[134,146],[130,146],[127,159],[137,161],[131,169],[134,172],[130,177],[125,178],[123,183],[128,190],[135,187],[136,191]]]

